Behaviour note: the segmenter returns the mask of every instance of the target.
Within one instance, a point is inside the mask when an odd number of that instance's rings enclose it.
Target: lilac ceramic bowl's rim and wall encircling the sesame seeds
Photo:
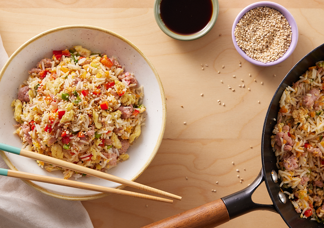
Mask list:
[[[280,57],[279,59],[277,59],[273,62],[270,62],[270,63],[262,63],[260,61],[250,58],[244,51],[242,51],[242,49],[240,49],[238,47],[236,38],[235,38],[235,34],[234,34],[236,25],[237,25],[238,21],[244,16],[244,14],[249,12],[251,9],[254,9],[257,7],[262,7],[262,6],[270,7],[272,9],[275,9],[275,10],[279,11],[280,13],[282,13],[282,15],[284,15],[284,17],[286,17],[289,25],[291,26],[291,32],[292,32],[291,44],[290,44],[288,50],[284,53],[284,55],[282,57]],[[296,21],[295,21],[293,15],[291,15],[291,13],[283,6],[281,6],[277,3],[274,3],[274,2],[256,2],[256,3],[253,3],[253,4],[245,7],[235,18],[233,27],[232,27],[232,40],[233,40],[236,50],[245,60],[247,60],[250,63],[257,65],[257,66],[273,66],[273,65],[276,65],[276,64],[281,63],[284,60],[286,60],[291,55],[291,53],[293,53],[293,51],[295,50],[297,40],[298,40],[298,28],[297,28],[297,24],[296,24]]]

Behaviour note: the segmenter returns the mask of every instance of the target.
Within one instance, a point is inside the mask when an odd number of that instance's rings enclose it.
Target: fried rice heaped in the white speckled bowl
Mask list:
[[[143,86],[117,59],[82,46],[53,51],[12,102],[23,148],[107,172],[129,158],[145,118]],[[64,179],[84,174],[37,161]]]

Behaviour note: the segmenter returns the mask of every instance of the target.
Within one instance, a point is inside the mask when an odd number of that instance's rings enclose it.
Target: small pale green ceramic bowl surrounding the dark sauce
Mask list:
[[[205,28],[203,28],[203,30],[201,30],[201,31],[199,31],[199,32],[197,32],[195,34],[181,35],[181,34],[175,33],[173,31],[171,31],[170,29],[168,29],[166,27],[166,25],[163,23],[163,21],[161,19],[161,16],[160,16],[160,3],[161,3],[161,0],[155,0],[155,2],[154,2],[154,8],[153,8],[154,9],[154,17],[155,17],[157,25],[169,37],[171,37],[173,39],[176,39],[176,40],[185,40],[185,41],[196,40],[196,39],[206,35],[213,28],[213,26],[214,26],[214,24],[215,24],[215,22],[217,20],[218,9],[219,9],[218,0],[211,0],[211,2],[213,4],[213,13],[212,13],[211,20],[208,23],[208,25]]]

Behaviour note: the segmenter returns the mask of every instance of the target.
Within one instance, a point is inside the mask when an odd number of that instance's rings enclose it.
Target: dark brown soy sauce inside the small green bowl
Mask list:
[[[192,35],[205,28],[213,14],[211,0],[161,0],[160,16],[171,31]]]

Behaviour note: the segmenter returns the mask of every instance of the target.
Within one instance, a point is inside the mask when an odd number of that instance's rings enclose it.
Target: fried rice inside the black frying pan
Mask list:
[[[287,86],[280,100],[272,147],[280,187],[301,218],[324,222],[324,62]]]

